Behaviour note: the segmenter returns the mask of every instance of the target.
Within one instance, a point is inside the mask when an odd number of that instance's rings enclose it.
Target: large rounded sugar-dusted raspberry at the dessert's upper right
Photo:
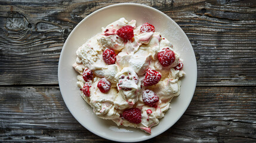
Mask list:
[[[158,60],[164,67],[170,66],[175,61],[175,53],[169,48],[162,49],[161,52],[158,52]]]

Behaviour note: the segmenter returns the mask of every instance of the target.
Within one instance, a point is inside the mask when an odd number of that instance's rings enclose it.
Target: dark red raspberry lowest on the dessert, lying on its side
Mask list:
[[[125,109],[122,116],[131,123],[138,124],[141,122],[141,110],[139,108]]]

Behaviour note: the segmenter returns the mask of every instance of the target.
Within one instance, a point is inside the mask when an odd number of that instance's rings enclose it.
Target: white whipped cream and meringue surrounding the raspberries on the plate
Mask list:
[[[134,37],[124,41],[117,35],[118,29],[123,26],[132,26]],[[120,18],[101,29],[101,33],[88,39],[76,51],[74,69],[79,73],[77,85],[80,89],[90,85],[90,96],[81,97],[91,105],[94,113],[102,119],[113,120],[117,125],[140,128],[151,133],[152,126],[159,123],[171,105],[173,97],[180,95],[180,78],[185,75],[181,69],[175,69],[183,60],[174,51],[171,42],[158,32],[140,32],[141,26],[136,21],[127,21]],[[169,48],[175,54],[175,61],[164,67],[158,60],[158,52]],[[103,51],[112,49],[116,53],[115,64],[106,64],[103,60]],[[161,80],[153,86],[143,86],[143,79],[147,69],[161,73]],[[89,69],[93,73],[92,80],[83,79],[83,71]],[[103,79],[111,83],[110,89],[102,93],[98,89],[98,82]],[[143,101],[143,91],[149,89],[155,93],[159,100],[155,106],[150,107]],[[150,93],[151,93],[150,91]],[[141,122],[131,123],[122,117],[128,108],[141,110]]]

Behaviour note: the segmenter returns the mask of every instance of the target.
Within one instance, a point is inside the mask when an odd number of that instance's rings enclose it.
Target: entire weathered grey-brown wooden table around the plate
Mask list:
[[[192,43],[198,83],[186,113],[146,142],[256,142],[256,1],[121,1],[156,8]],[[112,142],[70,114],[57,69],[88,14],[117,1],[0,0],[0,142]]]

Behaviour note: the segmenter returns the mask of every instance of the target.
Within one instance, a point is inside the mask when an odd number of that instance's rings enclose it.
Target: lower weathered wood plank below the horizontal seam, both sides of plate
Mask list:
[[[0,95],[0,142],[107,141],[75,120],[57,86],[0,87]],[[255,96],[255,87],[196,88],[181,119],[147,142],[255,142]]]

